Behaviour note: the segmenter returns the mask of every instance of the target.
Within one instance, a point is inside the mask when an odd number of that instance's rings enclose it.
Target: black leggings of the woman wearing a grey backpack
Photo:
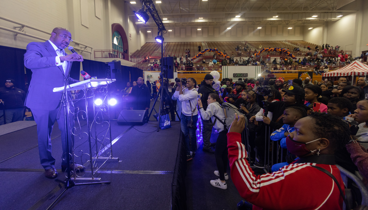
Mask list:
[[[215,158],[217,169],[219,170],[220,180],[225,180],[225,175],[227,171],[227,130],[223,130],[219,133],[219,137],[216,140]]]

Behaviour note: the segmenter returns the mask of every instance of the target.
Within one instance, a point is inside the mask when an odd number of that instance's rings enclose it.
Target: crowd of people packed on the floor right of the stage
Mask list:
[[[311,83],[309,78],[296,78],[292,83],[283,78],[275,81],[239,78],[235,82],[224,78],[220,87],[213,82],[211,74],[207,74],[198,85],[194,78],[187,78],[186,84],[181,80],[175,85],[173,98],[181,102],[181,130],[185,136],[187,161],[195,155],[195,130],[197,120],[201,118],[202,150],[214,153],[217,165],[213,173],[218,179],[210,180],[212,186],[227,189],[226,180],[231,175],[240,195],[258,207],[301,209],[303,205],[303,209],[318,206],[323,206],[322,209],[341,209],[343,199],[331,178],[308,166],[312,163],[327,169],[343,189],[335,164],[352,173],[360,171],[368,184],[367,80],[359,77],[355,86],[344,77],[316,84]],[[236,109],[233,116],[224,111],[229,104]],[[229,117],[235,118],[230,128],[226,120]],[[349,119],[355,120],[359,127],[354,135],[350,129],[351,122],[347,121]],[[273,130],[269,136],[265,133],[266,126]],[[212,127],[219,134],[216,143],[209,141]],[[243,144],[241,137],[245,128],[249,147]],[[274,165],[270,165],[268,158],[265,159],[273,149],[272,145],[265,145],[268,137],[273,142],[279,142],[280,147],[287,151],[283,157],[277,157],[282,161]],[[231,174],[228,173],[228,161]],[[274,173],[256,176],[252,171],[268,167]],[[296,182],[298,186],[300,182],[305,185],[296,189]],[[319,192],[318,196],[308,193],[310,186]],[[290,202],[284,199],[287,195],[280,194],[280,188],[291,193],[289,196],[309,194],[302,197],[313,202]]]

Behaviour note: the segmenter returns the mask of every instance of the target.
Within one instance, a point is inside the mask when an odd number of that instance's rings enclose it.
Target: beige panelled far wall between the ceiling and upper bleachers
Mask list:
[[[135,18],[136,19],[136,18]],[[164,34],[166,42],[218,42],[218,41],[285,41],[289,39],[303,40],[303,29],[301,26],[295,26],[293,29],[287,29],[286,25],[268,25],[257,29],[257,26],[234,26],[227,29],[224,26],[213,27],[166,27],[166,30],[173,30]],[[198,31],[197,28],[201,28]],[[269,29],[268,29],[269,28]],[[272,28],[274,33],[272,33]],[[298,28],[298,29],[297,29]],[[182,34],[182,30],[184,33]],[[284,33],[286,29],[287,33]],[[297,29],[297,30],[296,30]],[[216,34],[218,30],[218,34]],[[141,28],[145,35],[146,42],[155,42],[157,27]],[[147,33],[147,31],[152,31]],[[298,33],[296,31],[299,31]],[[194,32],[194,33],[193,33]]]

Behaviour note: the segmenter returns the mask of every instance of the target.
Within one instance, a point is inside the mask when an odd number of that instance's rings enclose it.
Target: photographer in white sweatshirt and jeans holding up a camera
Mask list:
[[[184,133],[185,150],[187,152],[187,161],[192,160],[197,149],[197,136],[195,130],[197,129],[198,109],[197,109],[197,88],[194,78],[187,79],[187,87],[182,89],[183,80],[175,78],[178,87],[174,93],[174,97],[181,102],[181,116],[180,124],[181,131]],[[189,136],[192,139],[192,148],[190,148]]]

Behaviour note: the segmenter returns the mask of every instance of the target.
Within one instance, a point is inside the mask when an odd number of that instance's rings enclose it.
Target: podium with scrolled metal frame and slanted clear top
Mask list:
[[[75,99],[67,97],[69,115],[74,115],[75,126],[70,134],[74,137],[71,155],[73,162],[78,161],[86,167],[85,172],[73,173],[74,179],[92,179],[108,160],[118,160],[113,157],[109,109],[109,84],[116,79],[89,79],[67,85],[66,90],[75,91]],[[63,87],[53,89],[62,92]],[[70,106],[74,107],[73,109]],[[90,166],[88,166],[88,164]],[[87,168],[91,167],[92,178],[84,178]]]

